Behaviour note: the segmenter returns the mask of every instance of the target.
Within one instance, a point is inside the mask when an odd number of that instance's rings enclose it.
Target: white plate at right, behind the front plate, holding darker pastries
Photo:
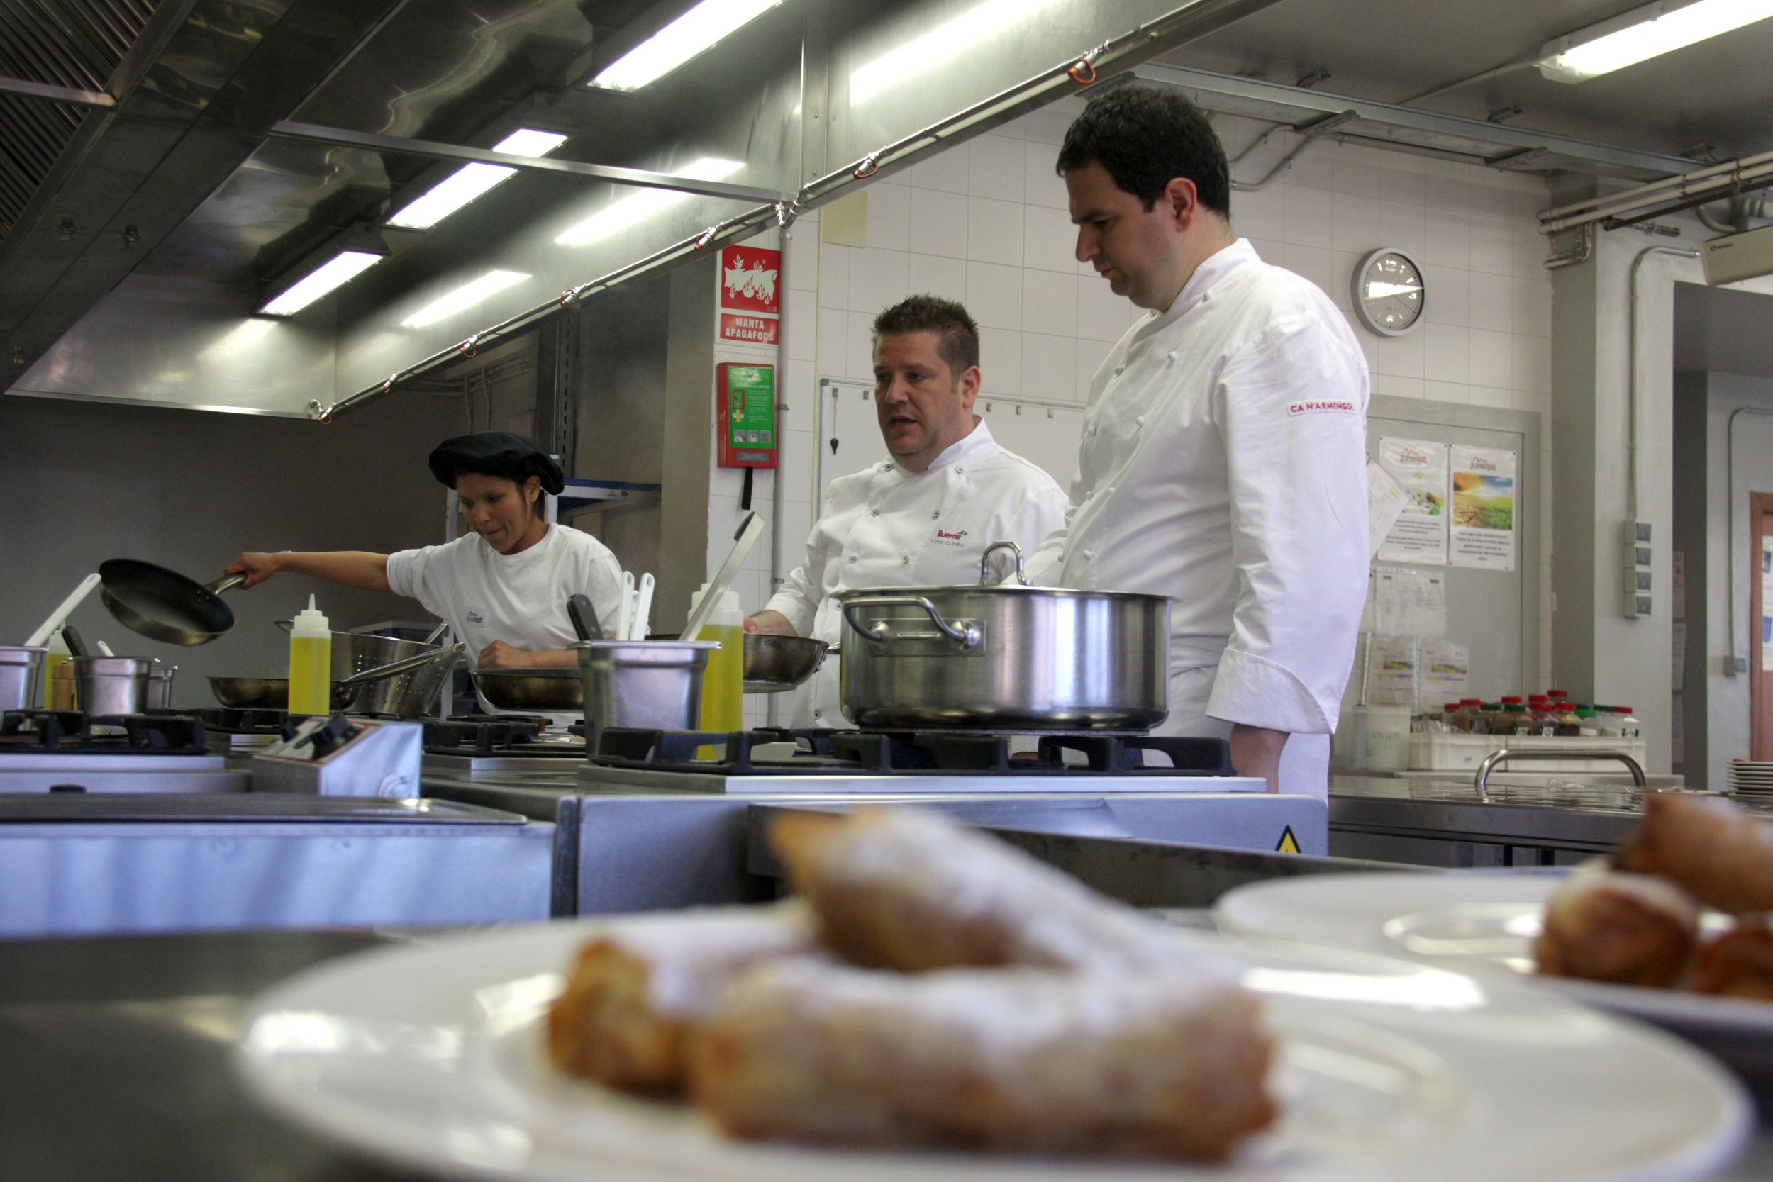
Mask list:
[[[1514,973],[1535,987],[1656,1023],[1773,1081],[1773,1003],[1672,989],[1534,976],[1544,898],[1566,870],[1312,874],[1239,886],[1213,918],[1225,932],[1408,957],[1470,973]],[[1707,916],[1709,923],[1727,923]]]

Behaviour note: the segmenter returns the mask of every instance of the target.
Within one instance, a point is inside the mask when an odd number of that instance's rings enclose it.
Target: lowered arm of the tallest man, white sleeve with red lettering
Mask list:
[[[1238,587],[1206,712],[1282,735],[1232,735],[1275,766],[1284,735],[1335,730],[1353,668],[1369,567],[1365,408],[1358,346],[1308,310],[1234,354],[1213,392]]]

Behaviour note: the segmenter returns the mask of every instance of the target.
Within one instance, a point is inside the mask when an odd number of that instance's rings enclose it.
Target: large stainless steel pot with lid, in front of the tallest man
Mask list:
[[[1149,730],[1170,712],[1165,595],[980,583],[837,601],[858,727]]]

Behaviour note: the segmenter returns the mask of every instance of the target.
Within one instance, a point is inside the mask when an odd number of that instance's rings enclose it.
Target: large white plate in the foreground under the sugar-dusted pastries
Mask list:
[[[532,1182],[1675,1182],[1741,1148],[1750,1108],[1709,1060],[1560,998],[1401,960],[1230,943],[1282,1037],[1284,1118],[1229,1166],[755,1145],[691,1109],[557,1074],[539,1015],[594,923],[346,957],[246,1024],[271,1106],[374,1155]]]

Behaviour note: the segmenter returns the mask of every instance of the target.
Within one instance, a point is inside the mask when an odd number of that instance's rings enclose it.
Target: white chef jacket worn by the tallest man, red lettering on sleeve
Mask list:
[[[1066,526],[1035,583],[1170,597],[1160,734],[1285,730],[1280,790],[1328,790],[1367,595],[1367,363],[1310,282],[1207,257],[1090,381]]]

